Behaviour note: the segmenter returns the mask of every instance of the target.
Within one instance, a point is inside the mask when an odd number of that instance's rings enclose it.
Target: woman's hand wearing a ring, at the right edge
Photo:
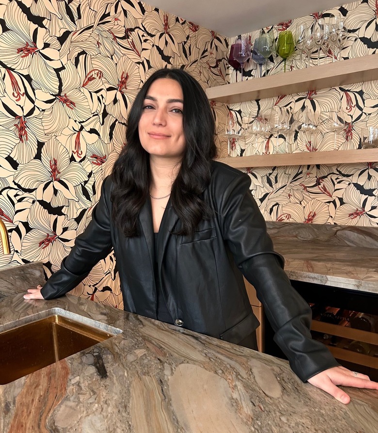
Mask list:
[[[378,383],[373,382],[368,376],[362,373],[356,374],[344,367],[332,367],[311,377],[307,382],[323,391],[328,392],[336,400],[342,403],[349,403],[350,397],[337,385],[354,386],[355,388],[378,389]]]

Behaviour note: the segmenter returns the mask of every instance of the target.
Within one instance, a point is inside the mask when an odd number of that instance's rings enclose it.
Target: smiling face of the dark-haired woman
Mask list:
[[[150,158],[182,159],[184,96],[180,84],[170,78],[155,80],[143,101],[139,139]]]

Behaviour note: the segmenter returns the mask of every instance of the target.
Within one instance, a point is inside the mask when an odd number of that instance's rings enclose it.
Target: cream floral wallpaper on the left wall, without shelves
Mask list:
[[[0,0],[0,267],[58,270],[125,144],[127,112],[156,69],[225,83],[227,40],[136,0]],[[113,255],[74,293],[123,308]]]

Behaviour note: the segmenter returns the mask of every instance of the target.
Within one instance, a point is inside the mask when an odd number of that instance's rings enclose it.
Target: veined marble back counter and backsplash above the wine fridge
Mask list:
[[[267,225],[290,279],[378,293],[378,228]]]

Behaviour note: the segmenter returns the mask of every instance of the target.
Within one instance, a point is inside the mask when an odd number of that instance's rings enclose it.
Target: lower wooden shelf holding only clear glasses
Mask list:
[[[377,56],[378,57],[378,56]],[[335,165],[351,162],[378,162],[378,149],[331,150],[328,152],[274,153],[219,158],[235,168],[276,167],[283,165]]]

